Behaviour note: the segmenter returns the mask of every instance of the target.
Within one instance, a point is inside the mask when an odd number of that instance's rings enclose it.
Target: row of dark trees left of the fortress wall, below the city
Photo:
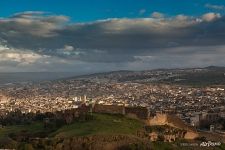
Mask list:
[[[77,109],[46,113],[22,113],[18,109],[8,112],[6,115],[0,115],[0,125],[25,125],[49,119],[50,122],[55,122],[55,124],[57,124],[56,126],[60,126],[63,124],[70,124],[74,120],[87,120],[90,118],[88,114],[89,108],[87,106],[81,106]]]

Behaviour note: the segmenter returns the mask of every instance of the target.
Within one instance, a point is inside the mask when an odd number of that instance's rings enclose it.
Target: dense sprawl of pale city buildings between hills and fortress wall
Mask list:
[[[225,117],[222,87],[68,80],[7,87],[0,91],[0,111],[48,112],[77,108],[81,103],[148,107],[152,114],[175,113],[198,126],[202,118]]]

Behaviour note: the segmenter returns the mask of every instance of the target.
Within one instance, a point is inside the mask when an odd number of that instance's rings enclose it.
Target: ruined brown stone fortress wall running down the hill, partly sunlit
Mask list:
[[[165,139],[171,141],[175,138],[195,139],[199,137],[195,128],[185,124],[180,118],[174,115],[157,113],[154,117],[150,117],[150,111],[146,107],[125,107],[117,105],[101,105],[95,104],[90,108],[94,113],[121,114],[131,118],[137,118],[145,121],[147,126],[165,126],[171,127],[173,130],[178,129],[177,134],[165,135]],[[170,133],[170,131],[168,131]],[[157,133],[155,133],[157,134]]]

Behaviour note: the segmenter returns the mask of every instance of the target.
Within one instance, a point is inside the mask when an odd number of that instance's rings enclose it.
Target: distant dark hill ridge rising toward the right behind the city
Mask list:
[[[225,67],[112,71],[78,76],[96,82],[165,83],[191,86],[225,85]]]

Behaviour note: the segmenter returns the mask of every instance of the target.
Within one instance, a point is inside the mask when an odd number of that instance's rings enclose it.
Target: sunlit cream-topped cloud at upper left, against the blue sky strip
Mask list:
[[[16,35],[49,37],[55,36],[54,30],[60,29],[67,21],[68,17],[66,16],[29,11],[0,19],[0,32],[12,37]]]

